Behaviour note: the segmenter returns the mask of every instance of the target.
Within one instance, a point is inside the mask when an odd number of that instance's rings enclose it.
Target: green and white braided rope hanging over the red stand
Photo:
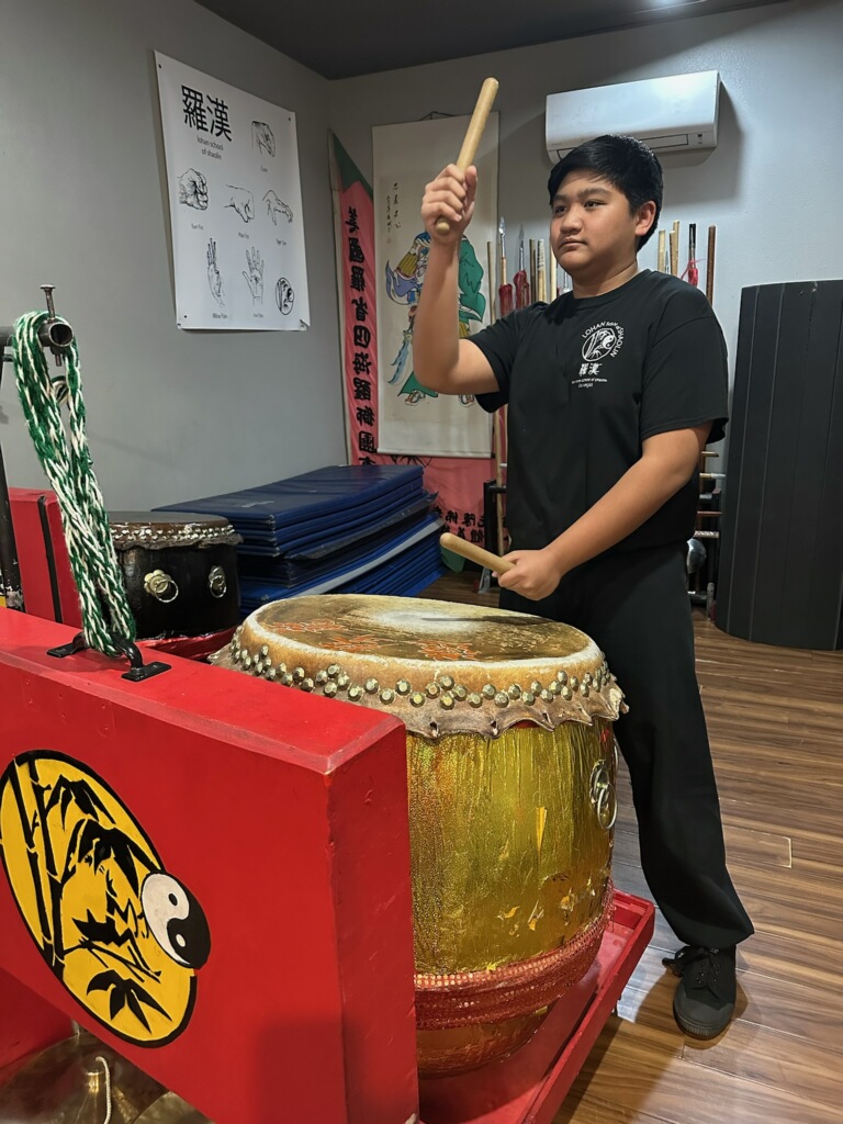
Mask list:
[[[26,312],[15,324],[10,344],[18,393],[29,436],[58,500],[85,643],[107,655],[119,655],[112,634],[134,640],[136,626],[88,448],[79,350],[74,341],[64,353],[64,366],[56,369],[58,377],[51,375],[38,339],[47,316]],[[66,429],[63,400],[67,405]]]

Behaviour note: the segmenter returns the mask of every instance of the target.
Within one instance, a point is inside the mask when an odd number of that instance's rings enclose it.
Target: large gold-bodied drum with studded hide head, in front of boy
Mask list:
[[[263,606],[215,662],[402,719],[419,1069],[511,1053],[611,910],[623,695],[593,641],[501,609],[328,595]]]

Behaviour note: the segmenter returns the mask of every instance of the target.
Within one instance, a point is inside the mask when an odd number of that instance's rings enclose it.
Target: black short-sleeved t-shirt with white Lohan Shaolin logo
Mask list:
[[[659,433],[711,422],[723,437],[728,373],[723,333],[705,294],[644,270],[602,297],[536,303],[471,337],[509,405],[507,525],[516,550],[540,550],[575,523]],[[696,472],[613,551],[694,534]]]

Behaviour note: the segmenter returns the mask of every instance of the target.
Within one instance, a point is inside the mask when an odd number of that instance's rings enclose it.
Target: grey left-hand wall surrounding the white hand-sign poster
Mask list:
[[[345,461],[329,83],[191,0],[0,0],[0,324],[57,310],[106,504],[146,509]],[[309,332],[175,327],[152,52],[297,115]],[[40,487],[10,366],[9,482]]]

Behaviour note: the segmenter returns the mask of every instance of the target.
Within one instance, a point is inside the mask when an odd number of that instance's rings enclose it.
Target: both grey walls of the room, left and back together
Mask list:
[[[547,93],[719,70],[722,139],[665,155],[667,227],[717,225],[715,308],[734,359],[741,288],[841,277],[843,0],[665,21],[327,82],[191,0],[0,0],[0,323],[58,310],[82,351],[89,434],[111,508],[147,508],[345,460],[327,130],[371,174],[373,125],[465,114],[501,83],[500,209],[546,235]],[[339,33],[341,34],[341,33]],[[311,328],[181,333],[152,52],[297,115]],[[432,172],[436,171],[432,169]],[[683,238],[685,241],[685,238]],[[509,246],[514,260],[515,237]],[[655,264],[655,239],[642,254]],[[12,484],[43,475],[7,369]]]

